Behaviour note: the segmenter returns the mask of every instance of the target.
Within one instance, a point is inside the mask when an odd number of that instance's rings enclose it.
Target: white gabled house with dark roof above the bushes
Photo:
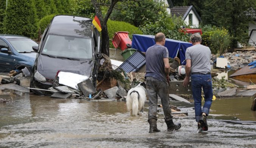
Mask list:
[[[170,0],[165,0],[165,3],[168,4],[169,7],[167,7],[167,11],[170,12],[172,16],[182,16],[184,22],[192,28],[197,28],[199,26],[201,18],[193,6],[172,7]]]

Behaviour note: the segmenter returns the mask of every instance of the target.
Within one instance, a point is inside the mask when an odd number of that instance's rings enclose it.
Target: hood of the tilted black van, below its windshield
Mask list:
[[[91,76],[93,64],[93,60],[73,61],[40,55],[37,62],[37,71],[47,79],[54,79],[58,71]]]

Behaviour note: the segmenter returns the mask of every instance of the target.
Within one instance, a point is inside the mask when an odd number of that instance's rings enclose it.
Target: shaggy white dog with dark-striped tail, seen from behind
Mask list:
[[[126,106],[131,115],[139,115],[139,111],[144,109],[144,103],[147,99],[145,87],[146,84],[142,82],[128,91]]]

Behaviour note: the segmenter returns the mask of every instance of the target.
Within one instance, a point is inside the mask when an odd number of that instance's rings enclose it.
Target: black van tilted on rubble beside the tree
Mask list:
[[[100,51],[100,33],[92,19],[75,16],[55,16],[42,35],[31,74],[31,86],[52,87],[58,71],[92,77],[96,87]],[[47,92],[33,90],[39,95]]]

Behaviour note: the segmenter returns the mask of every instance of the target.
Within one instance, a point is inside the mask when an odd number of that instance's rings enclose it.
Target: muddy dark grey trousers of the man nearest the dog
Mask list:
[[[148,109],[148,120],[157,120],[157,106],[158,106],[158,95],[161,98],[161,103],[164,110],[165,121],[172,120],[172,112],[170,109],[169,100],[169,86],[167,82],[159,81],[153,77],[147,76],[147,94],[149,98],[149,109]]]

